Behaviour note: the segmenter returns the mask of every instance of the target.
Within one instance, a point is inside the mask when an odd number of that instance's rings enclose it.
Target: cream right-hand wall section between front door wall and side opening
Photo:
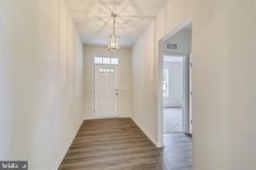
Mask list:
[[[150,24],[131,50],[131,118],[157,141],[157,58],[155,22]]]

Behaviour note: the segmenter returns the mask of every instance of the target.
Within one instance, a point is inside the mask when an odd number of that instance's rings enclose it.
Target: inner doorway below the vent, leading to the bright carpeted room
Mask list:
[[[163,134],[185,132],[184,59],[182,55],[163,56]]]

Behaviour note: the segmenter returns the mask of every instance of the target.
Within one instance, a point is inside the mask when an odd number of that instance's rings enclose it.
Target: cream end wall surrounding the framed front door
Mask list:
[[[93,118],[93,60],[95,56],[118,57],[118,116],[131,116],[131,48],[121,48],[118,54],[110,53],[106,47],[84,46],[84,118]]]

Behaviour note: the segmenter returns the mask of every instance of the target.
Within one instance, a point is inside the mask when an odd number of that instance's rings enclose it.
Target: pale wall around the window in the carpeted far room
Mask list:
[[[169,57],[169,56],[166,56]],[[169,72],[169,96],[163,98],[163,107],[182,107],[183,103],[183,62],[163,62]]]

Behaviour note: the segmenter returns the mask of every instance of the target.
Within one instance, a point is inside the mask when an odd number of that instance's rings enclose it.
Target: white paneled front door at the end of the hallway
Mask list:
[[[118,116],[118,66],[94,65],[94,117]]]

